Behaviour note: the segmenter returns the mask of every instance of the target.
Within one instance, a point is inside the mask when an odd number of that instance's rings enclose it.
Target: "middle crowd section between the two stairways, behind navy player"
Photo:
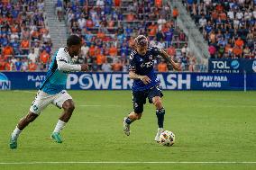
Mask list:
[[[70,1],[63,6],[69,34],[85,41],[78,63],[87,62],[93,71],[127,71],[131,44],[139,34],[147,35],[151,46],[166,49],[183,70],[195,69],[187,37],[175,25],[178,10],[171,13],[161,0]],[[171,69],[157,59],[156,70]]]

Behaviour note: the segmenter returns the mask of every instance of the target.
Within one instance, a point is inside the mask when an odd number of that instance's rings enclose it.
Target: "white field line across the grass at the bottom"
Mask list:
[[[0,162],[0,165],[43,165],[43,164],[256,164],[256,162]]]

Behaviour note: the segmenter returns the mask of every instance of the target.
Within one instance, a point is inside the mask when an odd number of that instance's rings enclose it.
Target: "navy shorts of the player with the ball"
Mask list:
[[[150,89],[143,91],[133,91],[133,110],[135,113],[143,112],[143,105],[146,103],[147,98],[149,103],[153,103],[152,99],[155,96],[162,97],[161,89],[159,85],[152,86]]]

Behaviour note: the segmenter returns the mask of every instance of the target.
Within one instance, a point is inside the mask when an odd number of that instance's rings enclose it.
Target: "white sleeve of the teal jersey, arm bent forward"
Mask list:
[[[58,68],[61,71],[81,71],[80,65],[69,64],[69,53],[68,49],[66,48],[59,49],[56,56],[56,61]]]

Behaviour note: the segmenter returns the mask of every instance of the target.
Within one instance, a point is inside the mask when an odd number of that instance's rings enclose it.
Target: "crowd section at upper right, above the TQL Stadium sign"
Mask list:
[[[211,58],[256,58],[256,1],[183,0]]]

